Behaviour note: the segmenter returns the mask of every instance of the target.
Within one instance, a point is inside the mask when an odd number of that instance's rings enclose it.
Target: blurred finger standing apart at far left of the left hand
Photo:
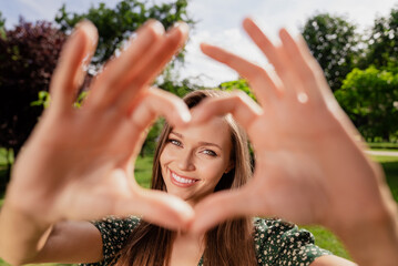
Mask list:
[[[84,64],[90,62],[96,41],[95,27],[89,21],[83,21],[64,44],[50,85],[52,105],[57,109],[72,109],[76,91],[84,80]]]

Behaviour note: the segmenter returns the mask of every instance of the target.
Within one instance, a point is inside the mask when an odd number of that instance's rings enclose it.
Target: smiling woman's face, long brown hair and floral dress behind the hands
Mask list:
[[[192,109],[205,98],[228,94],[195,91],[184,101]],[[245,133],[227,115],[197,126],[166,124],[154,156],[151,188],[194,206],[214,192],[243,186],[251,176]],[[104,265],[308,265],[329,254],[314,245],[308,232],[278,219],[256,219],[254,228],[252,218],[228,221],[205,235],[171,232],[137,217],[108,217],[95,225],[102,234]],[[285,245],[292,247],[284,254]]]

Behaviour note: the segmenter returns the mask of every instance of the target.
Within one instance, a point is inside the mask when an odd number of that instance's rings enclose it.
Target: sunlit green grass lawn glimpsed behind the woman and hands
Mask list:
[[[398,157],[391,157],[391,156],[373,156],[373,157],[379,163],[381,163],[387,176],[387,183],[392,192],[394,198],[398,202]],[[143,187],[150,187],[151,175],[152,175],[152,157],[144,157],[144,158],[139,157],[135,167],[135,177],[137,183]],[[2,200],[0,200],[0,206]],[[333,252],[337,256],[349,258],[349,254],[344,248],[344,245],[328,229],[322,226],[302,226],[302,227],[308,229],[314,234],[316,244],[318,246]],[[61,266],[61,264],[45,264],[45,265]],[[9,265],[2,262],[0,258],[0,266],[9,266]]]

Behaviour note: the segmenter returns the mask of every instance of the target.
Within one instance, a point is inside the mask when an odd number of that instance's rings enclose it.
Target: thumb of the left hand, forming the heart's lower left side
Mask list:
[[[109,215],[143,216],[145,221],[177,229],[186,228],[194,212],[183,200],[161,191],[144,190],[129,180],[127,173],[115,168],[100,187],[93,187],[88,195],[76,195],[67,204],[61,217],[68,219],[98,219]]]

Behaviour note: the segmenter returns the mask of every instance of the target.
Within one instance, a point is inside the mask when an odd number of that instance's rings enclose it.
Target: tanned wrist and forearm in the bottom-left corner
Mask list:
[[[50,232],[50,224],[18,211],[6,198],[0,211],[0,257],[12,265],[31,263]]]

